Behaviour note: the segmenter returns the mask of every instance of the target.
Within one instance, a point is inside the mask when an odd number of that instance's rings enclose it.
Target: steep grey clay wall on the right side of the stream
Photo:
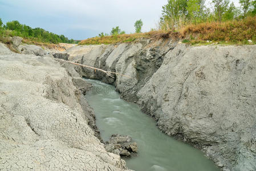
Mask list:
[[[76,46],[68,60],[119,72],[109,78],[169,136],[203,150],[224,170],[256,170],[256,46],[192,47],[174,40]]]

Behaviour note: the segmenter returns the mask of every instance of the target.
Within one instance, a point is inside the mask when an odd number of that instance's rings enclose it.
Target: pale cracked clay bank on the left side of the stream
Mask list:
[[[94,115],[80,93],[90,85],[42,48],[25,47],[32,53],[0,43],[0,170],[127,169],[89,126]]]

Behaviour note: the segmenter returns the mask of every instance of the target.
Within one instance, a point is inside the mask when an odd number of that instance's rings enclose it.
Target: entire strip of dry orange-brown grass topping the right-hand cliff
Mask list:
[[[151,31],[145,33],[111,35],[82,40],[80,45],[115,44],[136,42],[140,38],[168,39],[178,38],[188,44],[256,44],[256,17],[247,17],[240,21],[205,22],[188,25],[177,32]],[[253,43],[248,42],[252,40]],[[212,42],[211,42],[212,41]]]

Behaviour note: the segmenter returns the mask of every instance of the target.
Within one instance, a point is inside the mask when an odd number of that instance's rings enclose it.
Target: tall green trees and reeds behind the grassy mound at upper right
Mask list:
[[[256,0],[239,0],[239,4],[235,7],[230,0],[212,0],[209,8],[205,0],[168,0],[162,6],[158,29],[174,31],[189,24],[238,21],[256,15]]]

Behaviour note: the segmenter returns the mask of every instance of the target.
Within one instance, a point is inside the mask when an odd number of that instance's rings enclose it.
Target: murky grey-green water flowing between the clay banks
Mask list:
[[[219,170],[200,150],[161,133],[155,121],[140,111],[138,105],[120,99],[115,87],[97,80],[87,80],[94,88],[86,99],[94,108],[101,137],[129,135],[137,142],[139,153],[125,159],[133,170],[200,171]]]

